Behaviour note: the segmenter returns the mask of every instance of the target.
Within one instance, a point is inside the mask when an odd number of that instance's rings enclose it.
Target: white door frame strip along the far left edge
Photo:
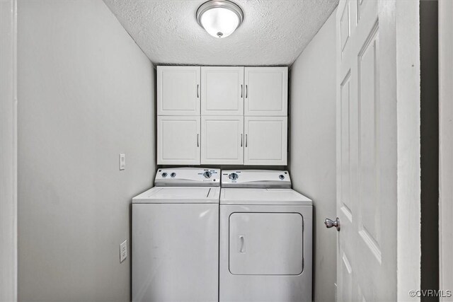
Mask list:
[[[0,16],[0,301],[17,301],[17,0]]]

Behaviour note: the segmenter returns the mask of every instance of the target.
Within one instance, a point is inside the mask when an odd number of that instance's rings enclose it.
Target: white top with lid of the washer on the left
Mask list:
[[[133,204],[218,204],[219,187],[153,187],[132,198]]]

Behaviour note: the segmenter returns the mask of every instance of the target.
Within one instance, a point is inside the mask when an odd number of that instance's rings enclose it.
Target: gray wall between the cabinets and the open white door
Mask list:
[[[335,301],[336,26],[335,14],[292,65],[289,171],[293,187],[314,201],[314,300]]]

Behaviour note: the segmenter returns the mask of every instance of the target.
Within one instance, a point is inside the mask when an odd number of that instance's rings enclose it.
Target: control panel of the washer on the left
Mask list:
[[[156,187],[219,187],[220,169],[160,168],[154,178]]]

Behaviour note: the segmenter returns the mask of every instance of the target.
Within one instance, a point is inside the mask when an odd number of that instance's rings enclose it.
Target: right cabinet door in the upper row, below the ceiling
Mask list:
[[[245,78],[244,115],[287,115],[287,67],[246,67]]]

